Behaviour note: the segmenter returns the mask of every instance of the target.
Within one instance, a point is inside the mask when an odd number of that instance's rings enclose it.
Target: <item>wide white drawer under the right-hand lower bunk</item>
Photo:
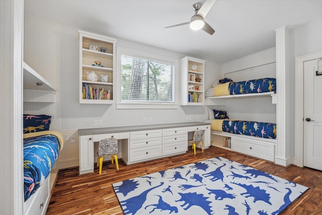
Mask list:
[[[274,144],[261,140],[232,138],[233,150],[239,153],[274,162]]]

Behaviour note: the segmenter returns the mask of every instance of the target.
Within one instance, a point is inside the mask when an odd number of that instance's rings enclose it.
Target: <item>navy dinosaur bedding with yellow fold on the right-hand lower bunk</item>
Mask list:
[[[213,119],[211,130],[276,139],[276,124],[268,122]]]

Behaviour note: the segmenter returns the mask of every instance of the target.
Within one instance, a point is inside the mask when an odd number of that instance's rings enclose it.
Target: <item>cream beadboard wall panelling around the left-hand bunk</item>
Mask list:
[[[24,16],[24,62],[51,83],[56,92],[24,91],[24,114],[53,115],[51,130],[59,130],[60,24]],[[60,158],[59,158],[60,159]],[[58,162],[53,170],[58,168]]]

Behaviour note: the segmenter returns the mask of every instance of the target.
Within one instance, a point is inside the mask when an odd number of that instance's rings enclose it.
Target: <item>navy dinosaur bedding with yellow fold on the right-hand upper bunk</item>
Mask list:
[[[227,82],[224,84],[218,84],[211,90],[207,90],[206,97],[216,97],[216,96],[229,96],[229,95],[240,95],[240,94],[250,94],[250,93],[276,93],[276,79],[274,78],[264,78],[264,79],[254,79],[242,82]],[[209,94],[210,92],[210,94]]]

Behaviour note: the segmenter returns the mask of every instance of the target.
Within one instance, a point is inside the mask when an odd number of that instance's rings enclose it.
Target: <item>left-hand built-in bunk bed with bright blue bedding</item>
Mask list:
[[[24,102],[55,102],[53,85],[25,62],[23,76]],[[59,131],[50,129],[52,119],[49,114],[23,115],[24,214],[45,214],[58,175],[56,163],[64,141]]]

